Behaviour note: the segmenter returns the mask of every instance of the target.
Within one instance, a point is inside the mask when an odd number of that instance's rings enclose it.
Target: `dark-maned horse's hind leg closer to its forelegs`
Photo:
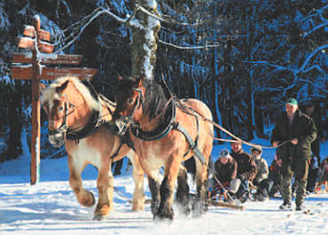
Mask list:
[[[176,202],[179,205],[179,210],[183,215],[189,215],[189,185],[187,170],[181,165],[177,176]]]

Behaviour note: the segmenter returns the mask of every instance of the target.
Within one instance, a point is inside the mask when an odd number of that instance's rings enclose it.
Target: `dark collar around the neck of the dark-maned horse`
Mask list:
[[[131,127],[132,134],[145,141],[158,140],[162,137],[166,137],[168,132],[174,127],[176,122],[176,105],[171,99],[170,104],[168,105],[167,111],[163,115],[162,123],[153,129],[152,131],[144,131],[140,127]]]

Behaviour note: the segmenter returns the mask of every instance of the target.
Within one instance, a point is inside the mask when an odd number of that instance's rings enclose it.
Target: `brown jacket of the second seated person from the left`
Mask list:
[[[252,181],[257,174],[256,164],[254,159],[243,150],[238,153],[231,153],[231,156],[235,161],[237,161],[238,175],[243,175],[247,180]]]

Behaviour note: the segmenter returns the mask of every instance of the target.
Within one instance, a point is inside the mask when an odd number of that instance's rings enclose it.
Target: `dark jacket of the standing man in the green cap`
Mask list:
[[[277,149],[277,154],[288,160],[293,158],[293,161],[306,160],[311,156],[311,143],[316,139],[316,125],[315,122],[306,114],[302,114],[301,110],[296,110],[293,124],[287,114],[284,113],[281,118],[277,120],[276,126],[272,131],[271,143],[278,141],[279,144],[293,138],[298,139],[298,144],[293,145],[291,142],[280,146]]]

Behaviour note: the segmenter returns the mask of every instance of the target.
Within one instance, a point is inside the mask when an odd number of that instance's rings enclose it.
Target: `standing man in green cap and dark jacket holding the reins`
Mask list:
[[[308,165],[311,156],[311,143],[316,139],[315,122],[298,108],[297,100],[288,98],[285,102],[285,113],[277,120],[272,131],[271,143],[279,146],[279,155],[283,160],[281,192],[284,203],[281,209],[291,209],[292,188],[294,176],[297,182],[296,210],[303,210],[306,185],[308,179]]]

